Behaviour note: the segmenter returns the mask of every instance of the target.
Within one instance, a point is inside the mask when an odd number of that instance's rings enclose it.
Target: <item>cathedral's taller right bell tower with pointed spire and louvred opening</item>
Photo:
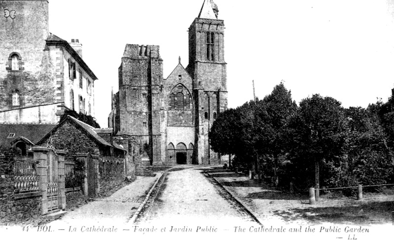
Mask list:
[[[220,164],[210,150],[208,133],[212,122],[227,109],[227,69],[224,58],[224,21],[213,0],[204,0],[189,28],[189,65],[196,102],[196,152],[198,164]]]

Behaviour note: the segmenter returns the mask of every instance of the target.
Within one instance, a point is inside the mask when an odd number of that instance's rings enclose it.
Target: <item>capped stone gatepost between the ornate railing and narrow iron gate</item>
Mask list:
[[[37,177],[38,177],[38,191],[42,192],[41,198],[41,214],[48,213],[48,199],[47,199],[47,184],[48,184],[48,173],[47,173],[47,153],[51,151],[45,147],[33,147],[34,159],[37,163]]]

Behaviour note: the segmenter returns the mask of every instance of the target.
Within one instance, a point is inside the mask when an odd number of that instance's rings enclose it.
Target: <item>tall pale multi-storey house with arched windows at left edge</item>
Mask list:
[[[96,75],[78,39],[49,32],[47,0],[0,0],[0,122],[57,123],[66,109],[94,116]]]

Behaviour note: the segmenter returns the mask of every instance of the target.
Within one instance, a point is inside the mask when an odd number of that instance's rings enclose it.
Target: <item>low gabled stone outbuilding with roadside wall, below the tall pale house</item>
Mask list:
[[[114,189],[134,172],[127,151],[117,144],[111,144],[111,137],[107,136],[106,131],[67,116],[37,145],[51,144],[56,149],[64,150],[66,188],[74,188],[76,183],[72,179],[78,175],[77,172],[83,172],[85,178],[77,186],[82,188],[84,195],[95,197]]]

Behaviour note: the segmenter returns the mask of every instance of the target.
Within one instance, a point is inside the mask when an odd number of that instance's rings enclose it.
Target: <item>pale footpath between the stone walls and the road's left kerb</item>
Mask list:
[[[52,221],[50,226],[67,225],[118,225],[125,224],[145,199],[146,192],[156,177],[137,177],[131,184],[116,191],[110,197],[98,198],[74,211],[69,211],[61,219]]]

